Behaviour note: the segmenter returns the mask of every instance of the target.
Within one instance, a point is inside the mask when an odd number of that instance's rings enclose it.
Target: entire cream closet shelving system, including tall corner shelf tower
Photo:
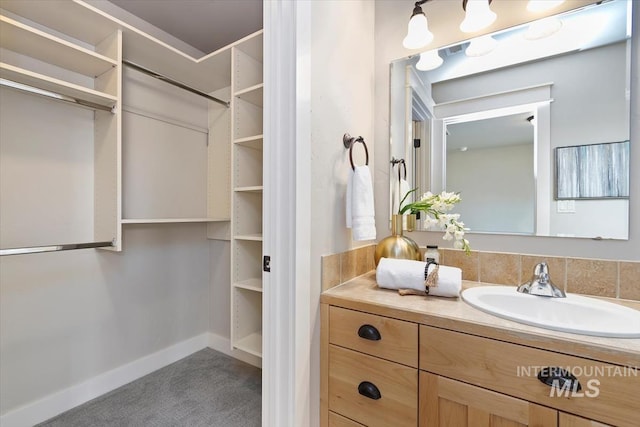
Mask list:
[[[262,30],[193,58],[82,0],[3,0],[1,8],[2,78],[96,106],[95,238],[114,239],[121,250],[123,224],[206,223],[209,238],[230,245],[231,346],[261,357]],[[176,170],[192,171],[186,163],[169,163],[175,148],[160,144],[144,151],[148,141],[130,138],[123,113],[146,106],[123,99],[129,73],[123,61],[229,101],[207,101],[206,151],[191,153],[206,163],[197,177],[183,176],[177,184]],[[158,163],[163,167],[154,169]],[[172,211],[168,186],[180,194],[192,191],[196,180],[198,204]]]

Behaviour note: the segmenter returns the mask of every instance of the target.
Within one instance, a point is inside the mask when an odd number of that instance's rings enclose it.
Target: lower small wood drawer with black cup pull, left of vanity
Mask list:
[[[361,394],[370,385],[379,396]],[[329,410],[371,427],[415,427],[418,370],[330,345]]]

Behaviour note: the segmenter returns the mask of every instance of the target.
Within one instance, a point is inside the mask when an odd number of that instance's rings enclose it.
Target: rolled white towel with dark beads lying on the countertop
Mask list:
[[[424,268],[426,262],[408,259],[380,258],[376,269],[378,286],[385,289],[413,289],[424,292]],[[435,265],[429,266],[429,273]],[[462,270],[441,265],[438,268],[436,286],[429,288],[429,295],[457,297],[462,289]]]

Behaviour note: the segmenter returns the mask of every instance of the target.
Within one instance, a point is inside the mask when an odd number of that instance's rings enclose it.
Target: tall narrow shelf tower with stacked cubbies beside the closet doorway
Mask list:
[[[262,33],[232,50],[231,342],[262,356]]]

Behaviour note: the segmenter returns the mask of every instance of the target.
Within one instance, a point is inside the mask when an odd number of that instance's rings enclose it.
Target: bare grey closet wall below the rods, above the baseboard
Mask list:
[[[127,226],[124,252],[0,258],[2,415],[209,327],[204,225]]]

